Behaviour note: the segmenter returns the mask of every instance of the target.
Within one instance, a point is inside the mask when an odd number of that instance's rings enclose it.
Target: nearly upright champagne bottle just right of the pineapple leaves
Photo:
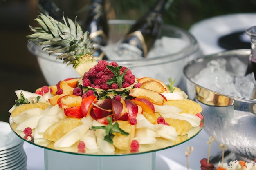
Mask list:
[[[83,30],[88,31],[92,42],[95,42],[92,55],[97,60],[107,59],[101,50],[108,43],[108,22],[104,6],[104,0],[92,0],[82,23]]]

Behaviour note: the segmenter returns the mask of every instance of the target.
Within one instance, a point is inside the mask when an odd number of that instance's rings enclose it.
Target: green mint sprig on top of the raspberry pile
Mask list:
[[[126,74],[128,68],[126,68],[124,73],[121,74],[121,75],[120,75],[120,70],[121,70],[122,66],[119,66],[119,67],[117,67],[117,66],[115,66],[115,67],[107,66],[107,68],[110,69],[110,71],[112,71],[114,73],[115,77],[113,77],[112,79],[108,80],[106,83],[108,85],[111,85],[113,83],[117,83],[118,88],[122,88],[122,84],[124,82],[124,75]]]

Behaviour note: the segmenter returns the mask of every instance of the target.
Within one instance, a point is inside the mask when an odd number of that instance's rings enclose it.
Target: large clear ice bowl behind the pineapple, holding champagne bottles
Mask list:
[[[133,20],[108,21],[110,48],[106,46],[104,49],[110,60],[118,41],[134,22]],[[49,85],[54,85],[61,79],[79,76],[71,65],[66,66],[62,64],[62,60],[56,60],[57,55],[49,56],[48,53],[43,52],[42,46],[28,44],[28,49],[37,57],[40,69]],[[184,65],[199,54],[198,43],[191,34],[175,26],[163,25],[160,38],[156,40],[146,58],[127,60],[124,57],[114,57],[113,60],[121,66],[129,67],[137,77],[153,77],[166,84],[169,77],[176,78],[177,86],[182,81]]]

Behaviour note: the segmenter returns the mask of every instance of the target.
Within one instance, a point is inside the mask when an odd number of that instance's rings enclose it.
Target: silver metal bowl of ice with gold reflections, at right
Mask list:
[[[217,142],[234,154],[254,160],[256,99],[250,95],[255,80],[253,74],[247,75],[247,79],[244,76],[250,52],[241,49],[207,55],[189,62],[183,72],[189,99],[203,108],[208,135],[215,135]]]

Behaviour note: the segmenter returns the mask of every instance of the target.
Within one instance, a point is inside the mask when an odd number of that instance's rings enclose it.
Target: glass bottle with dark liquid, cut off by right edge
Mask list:
[[[256,26],[247,29],[246,33],[251,37],[251,53],[245,75],[253,72],[256,80]]]

